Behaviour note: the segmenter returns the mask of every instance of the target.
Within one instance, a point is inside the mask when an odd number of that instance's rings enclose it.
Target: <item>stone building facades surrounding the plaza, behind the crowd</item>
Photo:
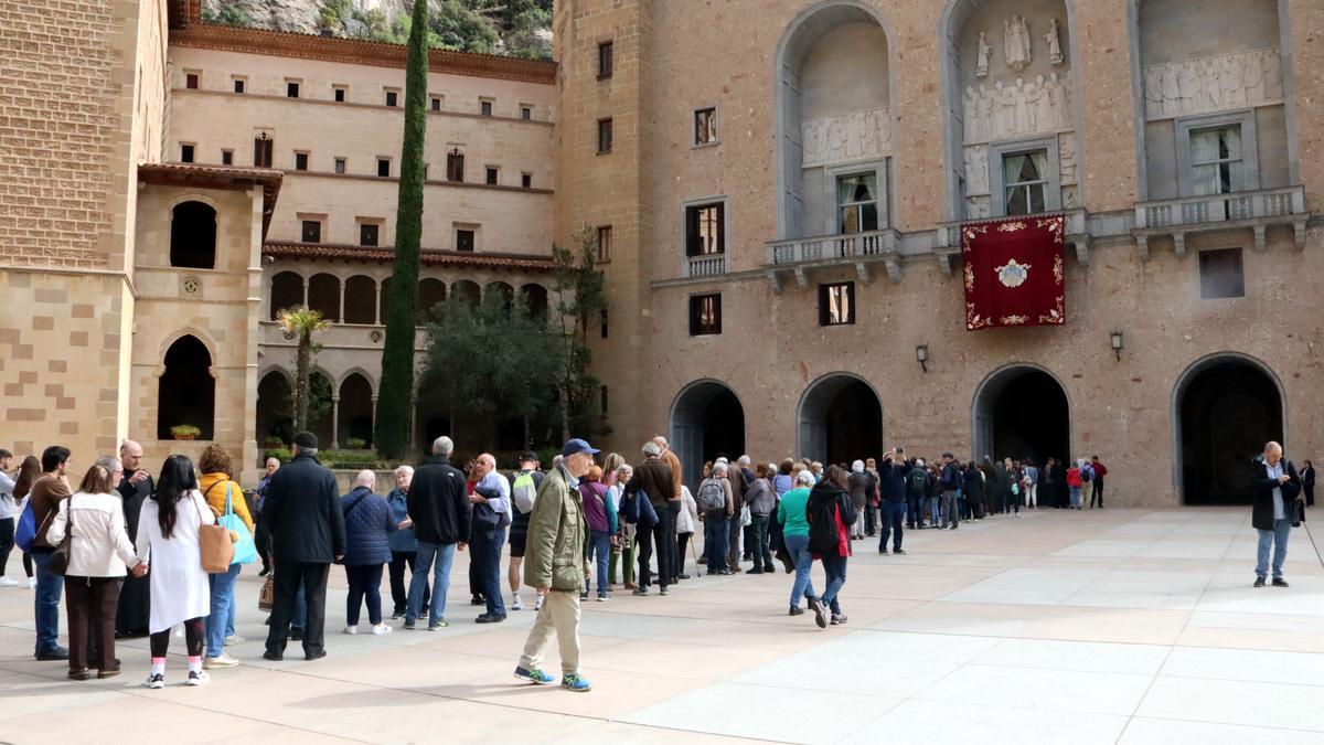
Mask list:
[[[167,358],[205,354],[211,436],[253,463],[294,304],[335,321],[323,437],[371,441],[404,50],[77,5],[0,3],[0,445],[160,457]],[[74,62],[42,62],[48,27]],[[421,292],[548,302],[551,244],[597,235],[609,447],[666,432],[690,479],[1099,455],[1110,504],[1145,505],[1237,498],[1264,439],[1324,447],[1324,8],[563,0],[553,30],[555,64],[433,53]],[[1063,216],[1067,323],[967,331],[959,227],[1019,213]],[[213,265],[176,266],[208,224]]]

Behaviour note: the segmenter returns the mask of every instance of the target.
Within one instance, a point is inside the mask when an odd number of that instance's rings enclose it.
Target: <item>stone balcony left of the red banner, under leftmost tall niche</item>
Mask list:
[[[867,233],[775,240],[767,244],[764,269],[773,292],[781,292],[786,274],[793,274],[797,285],[808,288],[812,270],[842,265],[853,265],[859,281],[869,282],[873,268],[882,264],[887,278],[899,282],[902,281],[899,243],[900,233],[891,228]]]

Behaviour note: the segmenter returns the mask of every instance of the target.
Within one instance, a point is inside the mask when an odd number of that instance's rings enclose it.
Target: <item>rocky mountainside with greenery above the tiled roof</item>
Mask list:
[[[432,46],[534,60],[552,56],[552,0],[428,0]],[[404,44],[410,0],[203,0],[203,20]]]

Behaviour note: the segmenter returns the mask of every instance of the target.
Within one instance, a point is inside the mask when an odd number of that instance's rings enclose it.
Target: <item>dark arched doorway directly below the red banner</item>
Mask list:
[[[1071,404],[1062,383],[1039,367],[1013,365],[985,378],[974,391],[972,420],[976,459],[1042,465],[1071,457]]]

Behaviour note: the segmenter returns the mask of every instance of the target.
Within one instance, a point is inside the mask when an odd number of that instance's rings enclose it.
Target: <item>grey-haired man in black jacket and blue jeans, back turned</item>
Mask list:
[[[455,549],[465,550],[473,508],[465,488],[465,475],[450,465],[455,444],[450,437],[437,437],[432,444],[433,460],[414,471],[405,504],[414,524],[418,555],[414,558],[413,578],[409,581],[409,604],[405,610],[405,628],[413,628],[422,611],[428,573],[433,573],[432,604],[428,608],[428,630],[449,626],[445,619],[446,593],[450,590],[450,565]]]

